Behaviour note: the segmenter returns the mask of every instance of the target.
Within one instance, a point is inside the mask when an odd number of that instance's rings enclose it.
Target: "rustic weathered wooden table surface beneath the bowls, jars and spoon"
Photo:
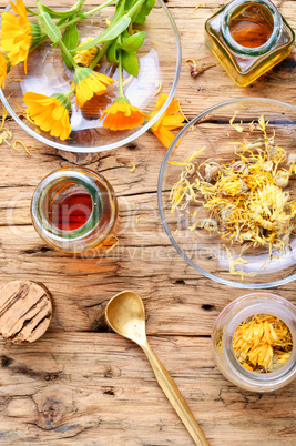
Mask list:
[[[204,44],[203,26],[223,2],[210,0],[194,10],[196,3],[166,0],[182,40],[176,98],[185,115],[191,119],[210,105],[241,97],[295,103],[295,49],[290,58],[246,89],[235,87],[220,65],[191,78],[186,59],[215,63]],[[275,3],[295,29],[296,2]],[[30,0],[28,6],[32,4]],[[61,6],[57,0],[47,4]],[[52,292],[54,308],[50,330],[40,341],[21,346],[1,342],[0,443],[192,444],[142,351],[110,333],[105,324],[108,301],[132,288],[143,296],[152,347],[211,445],[295,445],[295,382],[271,394],[249,393],[228,383],[214,365],[210,348],[214,321],[244,292],[203,277],[170,244],[156,203],[165,150],[154,135],[147,133],[127,146],[78,159],[32,141],[14,122],[8,126],[33,148],[29,158],[24,151],[1,145],[0,281],[43,282]],[[131,159],[136,164],[133,174],[129,173]],[[39,181],[76,161],[103,173],[119,196],[120,245],[99,264],[98,259],[73,259],[53,251],[31,224],[30,199]],[[135,224],[139,214],[145,220]],[[294,283],[273,291],[296,304]]]

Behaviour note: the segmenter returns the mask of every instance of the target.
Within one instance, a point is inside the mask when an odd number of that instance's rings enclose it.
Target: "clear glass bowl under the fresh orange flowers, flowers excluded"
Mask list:
[[[9,9],[10,6],[6,8],[6,11]],[[86,6],[84,9],[91,8]],[[88,37],[96,37],[102,29],[105,29],[106,19],[110,19],[113,13],[114,7],[108,7],[96,14],[81,20],[79,22],[81,41]],[[28,18],[31,20],[29,14]],[[177,28],[162,0],[156,0],[145,24],[139,24],[136,29],[145,31],[146,38],[137,52],[140,61],[137,78],[131,78],[130,74],[123,72],[123,79],[126,80],[124,93],[132,105],[139,107],[146,113],[154,110],[160,91],[167,94],[163,108],[142,126],[116,132],[103,128],[103,121],[100,121],[101,113],[111,105],[119,92],[118,70],[105,61],[101,63],[99,71],[110,75],[115,83],[108,89],[105,94],[94,95],[82,110],[75,109],[75,100],[72,100],[70,138],[61,141],[48,132],[41,130],[39,132],[39,129],[37,130],[37,126],[22,115],[21,111],[25,110],[24,93],[28,91],[47,95],[57,92],[64,93],[70,90],[73,79],[73,71],[67,69],[60,50],[51,47],[49,40],[30,53],[27,75],[23,71],[23,63],[11,69],[6,88],[0,89],[3,105],[30,135],[55,149],[89,153],[111,150],[130,143],[149,130],[164,113],[175,93],[181,71],[181,43]]]

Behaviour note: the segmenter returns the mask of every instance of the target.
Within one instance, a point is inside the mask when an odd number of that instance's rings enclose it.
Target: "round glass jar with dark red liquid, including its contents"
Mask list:
[[[118,203],[111,184],[82,168],[59,169],[38,185],[31,203],[38,234],[70,253],[98,249],[114,229]]]

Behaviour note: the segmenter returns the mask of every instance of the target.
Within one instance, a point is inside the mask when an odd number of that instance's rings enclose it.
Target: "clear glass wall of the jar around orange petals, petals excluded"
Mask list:
[[[288,361],[275,372],[258,373],[238,363],[233,351],[237,326],[255,314],[280,318],[289,328],[293,349]],[[251,392],[272,392],[296,377],[296,307],[275,294],[257,293],[239,297],[227,305],[217,317],[212,333],[212,352],[221,373],[233,384]]]

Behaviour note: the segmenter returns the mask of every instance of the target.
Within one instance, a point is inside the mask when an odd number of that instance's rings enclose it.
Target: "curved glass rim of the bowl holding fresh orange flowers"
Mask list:
[[[166,13],[171,24],[172,24],[172,29],[174,31],[174,36],[175,36],[175,43],[176,43],[176,70],[175,70],[175,77],[174,77],[174,81],[171,88],[171,91],[169,93],[169,97],[165,101],[165,103],[163,104],[163,107],[161,108],[161,110],[155,114],[155,116],[152,118],[151,121],[146,122],[145,125],[143,125],[140,130],[137,130],[137,132],[133,133],[132,135],[120,140],[118,142],[114,142],[112,144],[105,144],[105,145],[98,145],[98,146],[93,146],[93,148],[85,148],[85,146],[71,146],[71,145],[64,145],[64,144],[60,144],[59,142],[55,141],[50,141],[47,138],[39,135],[38,133],[35,133],[32,129],[30,129],[28,125],[25,125],[22,120],[13,112],[13,110],[11,109],[11,107],[9,105],[2,89],[0,88],[0,100],[2,101],[4,108],[7,109],[7,111],[10,113],[10,115],[13,118],[13,120],[27,132],[29,133],[31,136],[33,136],[34,139],[37,139],[38,141],[52,146],[54,149],[59,149],[59,150],[63,150],[65,152],[78,152],[78,153],[95,153],[95,152],[103,152],[106,150],[112,150],[112,149],[116,149],[120,148],[122,145],[129,144],[130,142],[134,141],[135,139],[137,139],[139,136],[141,136],[143,133],[145,133],[161,116],[162,114],[165,112],[165,110],[167,109],[167,107],[170,105],[175,91],[176,91],[176,87],[177,87],[177,82],[180,79],[180,73],[181,73],[181,64],[182,64],[182,50],[181,50],[181,41],[180,41],[180,36],[178,36],[178,30],[176,27],[176,23],[171,14],[171,12],[169,11],[167,7],[165,6],[163,0],[157,0],[159,3],[162,6],[164,12]],[[4,9],[3,12],[8,12],[10,9],[10,4],[7,6],[7,8]],[[2,19],[0,19],[0,23],[1,23]]]

